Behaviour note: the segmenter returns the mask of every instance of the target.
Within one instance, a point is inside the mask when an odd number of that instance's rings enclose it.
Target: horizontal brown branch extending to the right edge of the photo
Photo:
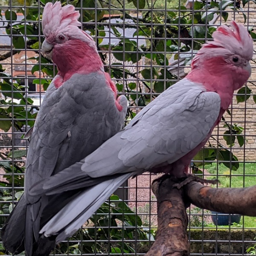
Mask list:
[[[187,200],[199,208],[224,214],[256,216],[256,186],[216,189],[192,181],[184,189]]]

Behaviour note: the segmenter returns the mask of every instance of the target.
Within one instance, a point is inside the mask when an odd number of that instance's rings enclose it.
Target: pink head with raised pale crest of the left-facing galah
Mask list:
[[[42,54],[51,58],[62,73],[88,67],[102,66],[94,40],[80,30],[78,11],[72,5],[61,7],[59,1],[47,3],[42,14],[42,31],[45,40]],[[96,63],[95,63],[96,62]]]

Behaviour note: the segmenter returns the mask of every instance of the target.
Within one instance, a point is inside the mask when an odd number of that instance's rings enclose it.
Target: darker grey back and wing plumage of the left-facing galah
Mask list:
[[[39,230],[38,221],[44,208],[43,203],[47,200],[45,197],[34,197],[32,201],[35,205],[27,208],[28,191],[36,182],[83,159],[116,134],[124,123],[126,98],[121,97],[119,103],[123,107],[120,112],[115,105],[113,90],[107,85],[103,72],[74,74],[59,89],[55,88],[54,83],[50,84],[33,131],[30,132],[25,174],[26,201],[23,200],[19,208],[14,208],[13,216],[17,215],[16,209],[21,211],[21,208],[23,215],[6,223],[1,232],[7,250],[16,251],[18,247],[24,248],[22,243],[26,219],[26,248],[31,255],[31,237]],[[40,209],[36,207],[37,200],[40,200]],[[20,229],[20,237],[18,242],[13,244],[10,240],[15,233],[15,226]],[[13,235],[7,237],[6,234],[10,231]],[[43,240],[43,243],[46,241]]]

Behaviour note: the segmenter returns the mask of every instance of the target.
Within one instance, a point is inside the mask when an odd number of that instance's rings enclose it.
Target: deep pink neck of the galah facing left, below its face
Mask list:
[[[95,49],[78,39],[56,44],[52,59],[58,68],[58,79],[54,81],[56,88],[75,73],[89,74],[103,70],[101,58]]]

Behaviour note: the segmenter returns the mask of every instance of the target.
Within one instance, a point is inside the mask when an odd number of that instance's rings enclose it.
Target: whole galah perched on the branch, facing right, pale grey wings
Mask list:
[[[28,201],[80,190],[40,230],[58,243],[71,236],[126,179],[145,171],[186,176],[229,107],[234,90],[250,77],[252,39],[241,24],[220,26],[202,46],[191,72],[143,108],[115,136],[82,161],[33,186]],[[52,205],[49,204],[48,208]]]

